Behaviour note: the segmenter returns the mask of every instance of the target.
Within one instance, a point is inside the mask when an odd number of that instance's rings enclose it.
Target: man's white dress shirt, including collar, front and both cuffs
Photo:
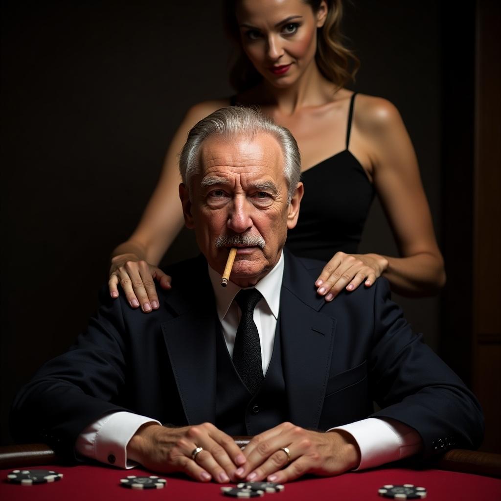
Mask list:
[[[236,330],[240,322],[240,309],[233,301],[240,287],[229,282],[221,287],[221,276],[210,267],[208,269],[216,298],[217,316],[230,356],[233,354]],[[266,374],[272,358],[275,330],[280,309],[280,290],[284,275],[284,254],[278,263],[256,285],[263,299],[254,310],[254,322],[261,340],[263,374]],[[113,412],[87,426],[75,443],[76,451],[83,455],[109,464],[110,455],[114,465],[132,468],[135,463],[127,460],[127,444],[140,426],[158,421],[131,412]],[[418,452],[422,446],[421,437],[413,428],[393,420],[367,418],[344,426],[331,428],[344,430],[356,440],[361,460],[357,469],[371,468],[396,461]]]

